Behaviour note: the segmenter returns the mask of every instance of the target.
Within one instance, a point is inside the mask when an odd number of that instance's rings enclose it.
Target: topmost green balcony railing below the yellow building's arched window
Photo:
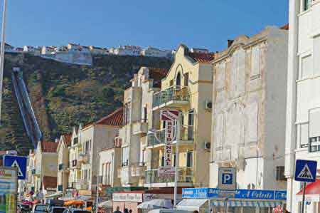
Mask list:
[[[171,100],[189,100],[188,87],[181,85],[174,85],[166,90],[161,90],[154,94],[153,107],[167,103]]]

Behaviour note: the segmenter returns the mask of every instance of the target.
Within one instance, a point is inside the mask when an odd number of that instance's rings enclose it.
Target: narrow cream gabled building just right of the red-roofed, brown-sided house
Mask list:
[[[65,193],[65,189],[68,188],[69,180],[69,149],[71,145],[72,134],[61,135],[58,152],[58,180],[57,180],[57,192]]]

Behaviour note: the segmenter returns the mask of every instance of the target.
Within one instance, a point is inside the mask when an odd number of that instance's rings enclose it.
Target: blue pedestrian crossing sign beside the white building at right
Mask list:
[[[316,181],[316,161],[314,160],[297,160],[294,180],[300,182]]]

